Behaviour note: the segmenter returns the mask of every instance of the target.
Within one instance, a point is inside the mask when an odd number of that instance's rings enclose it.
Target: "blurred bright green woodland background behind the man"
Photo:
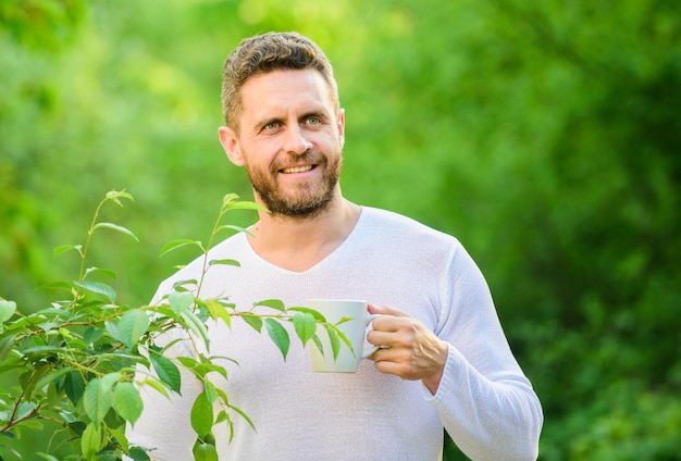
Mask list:
[[[102,233],[90,261],[147,302],[194,256],[161,247],[251,198],[216,137],[224,59],[290,29],[334,63],[345,195],[456,235],[486,275],[541,459],[680,459],[678,1],[0,0],[0,296],[46,307],[77,274],[52,249],[126,189],[102,217],[140,241]]]

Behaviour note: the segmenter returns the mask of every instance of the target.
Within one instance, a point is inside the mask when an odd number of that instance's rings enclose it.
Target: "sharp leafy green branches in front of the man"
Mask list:
[[[232,317],[242,317],[258,332],[264,325],[284,359],[290,338],[282,323],[293,323],[304,345],[310,339],[318,340],[311,333],[318,323],[326,328],[335,325],[305,308],[293,308],[289,312],[278,300],[255,302],[251,310],[240,311],[222,299],[201,298],[200,287],[207,271],[215,264],[235,263],[209,260],[213,238],[224,229],[235,228],[223,224],[225,214],[232,210],[261,210],[256,203],[239,201],[235,195],[225,196],[209,244],[203,247],[200,241],[193,241],[203,256],[199,281],[176,286],[158,306],[117,303],[113,286],[92,279],[96,276],[115,279],[115,273],[86,266],[90,244],[102,229],[137,239],[125,227],[98,221],[104,204],[113,202],[123,207],[122,199],[133,197],[125,191],[107,194],[96,209],[85,244],[71,247],[77,250],[81,269],[77,281],[60,285],[67,294],[65,299],[24,314],[14,301],[0,298],[0,376],[17,376],[0,391],[0,436],[21,439],[25,431],[47,431],[46,423],[52,422],[62,425],[60,432],[67,433],[74,449],[67,459],[115,460],[123,453],[135,460],[148,459],[141,447],[129,446],[124,434],[125,424],[134,424],[143,411],[139,386],[149,386],[166,396],[179,393],[179,367],[184,366],[203,384],[190,414],[197,434],[195,458],[216,460],[213,425],[232,426],[231,413],[244,418],[251,426],[252,422],[230,404],[227,395],[209,378],[211,372],[223,377],[227,373],[202,352],[209,350],[206,322],[223,321],[230,326]],[[179,247],[169,245],[164,252]],[[57,253],[63,253],[63,248]],[[270,308],[271,313],[253,312],[256,307]],[[170,334],[177,339],[163,345]],[[171,347],[181,338],[195,348],[198,360],[173,356]],[[343,339],[347,344],[347,338],[343,336]],[[59,447],[50,441],[41,453],[51,459],[51,453],[58,451]],[[0,445],[0,457],[8,453],[18,458],[28,454]]]

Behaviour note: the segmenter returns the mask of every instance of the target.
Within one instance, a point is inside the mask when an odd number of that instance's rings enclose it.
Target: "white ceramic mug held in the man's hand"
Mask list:
[[[326,322],[331,324],[336,324],[342,319],[349,319],[337,325],[337,327],[348,338],[352,345],[352,350],[347,347],[345,341],[340,340],[338,357],[335,359],[326,329],[321,325],[317,326],[317,336],[324,350],[323,352],[320,351],[314,341],[309,342],[312,370],[315,372],[355,373],[362,359],[367,359],[379,350],[377,346],[364,350],[367,326],[377,316],[376,314],[369,313],[367,310],[367,301],[351,299],[309,299],[307,307],[324,315]]]

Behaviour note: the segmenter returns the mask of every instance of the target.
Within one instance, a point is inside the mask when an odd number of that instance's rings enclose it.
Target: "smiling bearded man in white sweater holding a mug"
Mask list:
[[[211,354],[238,362],[221,386],[255,425],[234,416],[232,440],[216,425],[221,459],[437,460],[443,427],[473,460],[535,459],[541,406],[471,258],[454,237],[343,197],[345,114],[322,50],[295,33],[246,39],[225,63],[222,100],[220,141],[269,213],[211,250],[240,266],[211,267],[202,296],[244,309],[368,299],[380,316],[367,339],[381,349],[355,374],[314,373],[299,344],[283,361],[267,335],[209,324]],[[145,393],[131,441],[157,448],[152,459],[191,459],[201,390],[185,376],[182,398]]]

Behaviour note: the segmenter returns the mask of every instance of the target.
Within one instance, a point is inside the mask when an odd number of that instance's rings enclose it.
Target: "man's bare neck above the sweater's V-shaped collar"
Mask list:
[[[338,248],[359,220],[360,207],[339,194],[313,217],[261,212],[249,241],[264,260],[282,269],[305,272]]]

